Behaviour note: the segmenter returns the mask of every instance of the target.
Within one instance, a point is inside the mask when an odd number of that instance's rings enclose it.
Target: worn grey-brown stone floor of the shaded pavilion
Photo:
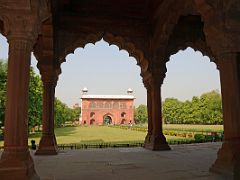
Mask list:
[[[205,180],[221,143],[174,145],[171,151],[108,148],[33,156],[42,180]]]

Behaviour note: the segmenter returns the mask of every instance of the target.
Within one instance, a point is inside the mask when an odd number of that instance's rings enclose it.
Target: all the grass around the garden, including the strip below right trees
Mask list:
[[[147,125],[143,125],[147,127]],[[188,131],[188,132],[222,132],[222,125],[183,125],[183,124],[164,124],[164,130]],[[103,143],[103,142],[143,142],[146,132],[132,131],[130,129],[110,128],[107,126],[88,126],[88,127],[65,127],[55,129],[58,144],[75,143]],[[33,139],[39,144],[41,133],[29,135],[29,144]],[[179,136],[166,136],[167,140],[184,140],[187,138]],[[3,141],[0,141],[0,146]]]

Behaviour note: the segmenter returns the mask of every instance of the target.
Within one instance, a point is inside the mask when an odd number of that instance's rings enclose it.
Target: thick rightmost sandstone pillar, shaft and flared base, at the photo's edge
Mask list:
[[[225,55],[218,62],[221,79],[224,142],[210,171],[226,179],[240,179],[240,56]]]

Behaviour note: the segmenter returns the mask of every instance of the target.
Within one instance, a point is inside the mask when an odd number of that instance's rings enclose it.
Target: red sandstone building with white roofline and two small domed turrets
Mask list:
[[[127,95],[88,95],[87,88],[82,90],[80,124],[109,125],[132,124],[133,91]]]

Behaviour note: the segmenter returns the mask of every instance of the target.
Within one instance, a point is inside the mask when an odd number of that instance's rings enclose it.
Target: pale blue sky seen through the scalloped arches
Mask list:
[[[0,59],[6,59],[7,54],[8,43],[0,35]],[[61,65],[56,97],[72,107],[80,103],[83,87],[88,88],[89,94],[110,95],[126,94],[127,89],[132,88],[135,106],[146,104],[146,90],[136,62],[127,51],[109,46],[103,40],[95,45],[87,44],[84,49],[78,48],[74,54],[69,54]],[[31,64],[39,73],[36,63],[32,56]],[[191,48],[170,57],[162,85],[163,100],[167,97],[187,100],[214,89],[220,91],[219,72],[208,57]]]

